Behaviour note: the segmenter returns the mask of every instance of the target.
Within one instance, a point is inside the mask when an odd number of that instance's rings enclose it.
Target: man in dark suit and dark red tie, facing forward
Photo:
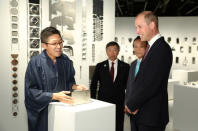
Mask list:
[[[129,65],[117,59],[119,50],[120,47],[116,42],[112,41],[106,45],[108,60],[96,65],[90,89],[92,98],[116,104],[116,131],[123,131],[124,98]]]

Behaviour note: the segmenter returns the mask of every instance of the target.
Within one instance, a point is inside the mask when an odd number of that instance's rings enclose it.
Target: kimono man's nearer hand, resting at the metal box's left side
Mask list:
[[[73,104],[73,100],[71,96],[68,96],[70,94],[69,91],[61,91],[58,93],[53,93],[52,100],[58,100],[60,102],[66,103],[66,104]]]

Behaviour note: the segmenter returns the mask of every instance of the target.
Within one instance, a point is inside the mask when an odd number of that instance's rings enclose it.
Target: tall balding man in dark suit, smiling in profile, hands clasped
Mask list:
[[[167,84],[172,66],[170,46],[159,34],[158,18],[143,11],[135,19],[136,33],[148,41],[138,74],[127,94],[125,110],[135,119],[133,131],[164,131],[169,121]]]

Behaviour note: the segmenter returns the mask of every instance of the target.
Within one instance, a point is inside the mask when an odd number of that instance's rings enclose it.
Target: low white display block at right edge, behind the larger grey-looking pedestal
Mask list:
[[[172,78],[178,80],[180,84],[184,84],[184,82],[197,81],[198,70],[173,70]]]

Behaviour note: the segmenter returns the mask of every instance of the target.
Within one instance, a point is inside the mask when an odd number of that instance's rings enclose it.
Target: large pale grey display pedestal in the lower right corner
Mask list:
[[[198,131],[198,88],[175,85],[173,125],[179,131]]]

